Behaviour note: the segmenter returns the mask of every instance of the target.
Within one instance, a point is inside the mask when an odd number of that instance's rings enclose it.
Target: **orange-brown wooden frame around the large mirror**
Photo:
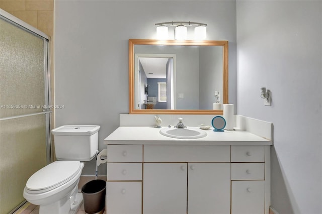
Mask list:
[[[183,46],[222,46],[222,90],[223,104],[228,103],[228,41],[178,41],[178,40],[148,40],[129,39],[129,114],[175,114],[175,115],[222,115],[222,110],[158,110],[135,109],[135,79],[134,79],[134,45],[183,45]]]

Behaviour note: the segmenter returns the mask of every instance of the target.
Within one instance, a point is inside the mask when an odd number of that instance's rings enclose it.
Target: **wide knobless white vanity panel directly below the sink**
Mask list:
[[[144,145],[144,162],[230,162],[230,146]]]

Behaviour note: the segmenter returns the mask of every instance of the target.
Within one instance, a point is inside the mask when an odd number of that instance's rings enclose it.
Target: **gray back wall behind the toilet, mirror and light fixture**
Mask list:
[[[101,125],[103,139],[128,113],[128,39],[154,39],[155,23],[207,23],[208,40],[229,41],[229,101],[236,100],[234,1],[55,1],[56,126]],[[94,174],[87,164],[83,174]],[[99,174],[106,174],[100,166]]]

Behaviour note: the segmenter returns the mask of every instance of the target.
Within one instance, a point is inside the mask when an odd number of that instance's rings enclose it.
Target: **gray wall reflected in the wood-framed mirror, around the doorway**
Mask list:
[[[135,54],[176,55],[176,110],[212,110],[215,90],[222,101],[222,51],[221,46],[134,45]],[[142,92],[135,91],[135,96],[141,97]],[[179,98],[179,93],[184,98]],[[161,109],[159,106],[155,109]]]

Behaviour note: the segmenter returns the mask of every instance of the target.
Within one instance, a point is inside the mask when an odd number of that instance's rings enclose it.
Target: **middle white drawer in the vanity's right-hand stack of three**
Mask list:
[[[264,180],[264,163],[231,163],[231,180]]]

